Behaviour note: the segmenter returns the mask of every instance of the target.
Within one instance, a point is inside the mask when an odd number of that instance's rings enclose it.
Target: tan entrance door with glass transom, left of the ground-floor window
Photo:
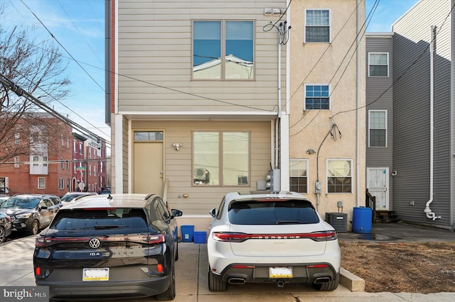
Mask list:
[[[146,132],[141,131],[141,134]],[[156,134],[156,132],[152,132]],[[149,133],[150,134],[150,133]],[[134,133],[133,155],[133,193],[155,193],[163,196],[163,138],[162,132],[159,140],[154,135],[149,135],[147,140]]]

